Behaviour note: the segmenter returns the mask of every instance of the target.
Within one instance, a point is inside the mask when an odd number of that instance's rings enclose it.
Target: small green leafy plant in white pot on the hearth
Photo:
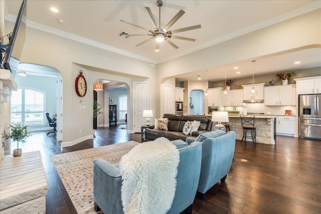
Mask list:
[[[31,136],[31,133],[28,131],[28,126],[23,125],[21,122],[13,122],[10,125],[11,133],[3,133],[3,137],[8,140],[12,139],[17,142],[17,149],[14,149],[13,156],[18,157],[22,155],[22,149],[19,148],[19,142],[24,143],[27,137]]]

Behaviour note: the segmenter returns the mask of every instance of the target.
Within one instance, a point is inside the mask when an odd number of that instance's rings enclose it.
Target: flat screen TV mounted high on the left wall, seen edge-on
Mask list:
[[[10,66],[11,58],[15,58],[18,61],[20,60],[22,50],[24,48],[25,39],[26,39],[26,20],[27,20],[27,0],[23,0],[19,13],[17,15],[17,20],[15,23],[14,30],[10,37],[9,46],[7,48],[6,56],[4,59],[4,69],[10,70],[13,75],[17,71],[12,70]]]

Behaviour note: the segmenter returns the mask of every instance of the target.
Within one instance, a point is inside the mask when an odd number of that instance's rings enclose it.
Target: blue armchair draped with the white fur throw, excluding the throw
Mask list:
[[[179,149],[180,162],[176,176],[175,196],[168,213],[177,214],[184,210],[192,213],[192,204],[200,178],[202,145],[200,142],[188,145],[184,141],[174,144]],[[121,182],[121,173],[117,164],[110,164],[103,159],[94,160],[93,191],[96,211],[102,210],[105,214],[123,213]],[[159,202],[162,203],[162,201]]]

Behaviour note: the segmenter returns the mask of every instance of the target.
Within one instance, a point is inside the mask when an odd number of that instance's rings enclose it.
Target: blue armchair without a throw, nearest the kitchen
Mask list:
[[[227,173],[230,171],[234,150],[235,132],[225,133],[222,130],[211,131],[199,135],[195,138],[187,138],[190,144],[194,141],[202,142],[202,166],[200,181],[197,188],[201,198],[219,180],[225,181]]]

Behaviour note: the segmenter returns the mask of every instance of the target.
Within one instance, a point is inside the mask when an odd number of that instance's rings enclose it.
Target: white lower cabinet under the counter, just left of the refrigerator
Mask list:
[[[295,116],[277,116],[276,133],[295,134]]]

